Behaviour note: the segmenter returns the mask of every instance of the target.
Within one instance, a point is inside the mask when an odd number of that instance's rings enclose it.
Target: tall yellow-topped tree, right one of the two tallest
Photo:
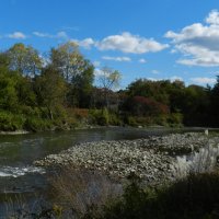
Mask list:
[[[53,48],[51,66],[68,84],[66,103],[69,106],[88,107],[94,80],[94,67],[80,54],[73,42]]]

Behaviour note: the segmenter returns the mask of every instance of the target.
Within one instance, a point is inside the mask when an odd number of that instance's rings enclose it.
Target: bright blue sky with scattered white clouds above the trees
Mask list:
[[[0,49],[15,43],[42,55],[68,41],[95,66],[132,81],[212,85],[219,74],[218,0],[1,0]]]

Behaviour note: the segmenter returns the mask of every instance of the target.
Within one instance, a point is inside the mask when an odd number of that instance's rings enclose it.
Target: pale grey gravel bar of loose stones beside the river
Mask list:
[[[73,166],[102,171],[108,175],[127,177],[136,174],[147,182],[173,178],[173,163],[177,154],[189,153],[219,142],[219,137],[204,134],[171,134],[137,140],[97,141],[76,145],[59,154],[35,161],[39,166]]]

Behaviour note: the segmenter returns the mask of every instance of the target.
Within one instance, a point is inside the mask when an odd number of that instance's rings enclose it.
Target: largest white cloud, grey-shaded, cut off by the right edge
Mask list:
[[[184,57],[177,60],[186,66],[219,66],[219,12],[211,11],[206,24],[194,23],[185,26],[180,33],[169,31],[165,37],[174,44],[173,51]]]

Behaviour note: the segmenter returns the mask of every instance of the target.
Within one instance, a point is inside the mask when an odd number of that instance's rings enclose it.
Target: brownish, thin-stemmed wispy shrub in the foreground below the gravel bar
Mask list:
[[[49,182],[57,206],[72,209],[73,216],[78,217],[92,215],[91,218],[94,218],[99,209],[108,199],[117,197],[122,189],[102,173],[70,166],[60,168]]]

